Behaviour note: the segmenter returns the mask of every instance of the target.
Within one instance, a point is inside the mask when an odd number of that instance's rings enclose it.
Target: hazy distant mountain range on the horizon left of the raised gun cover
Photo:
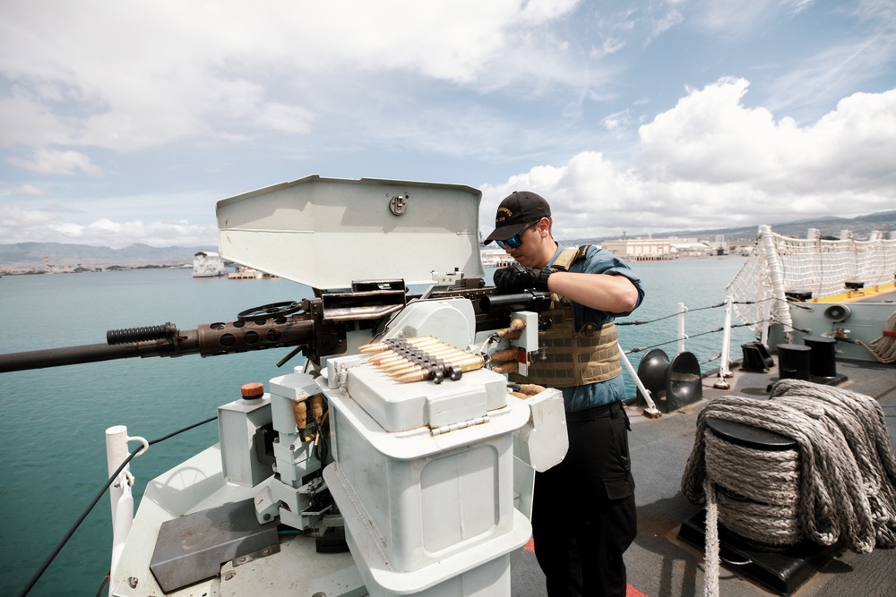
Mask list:
[[[50,265],[84,268],[106,268],[113,265],[182,265],[192,264],[200,251],[217,252],[217,247],[151,247],[135,243],[124,249],[96,247],[73,243],[14,243],[0,244],[0,269],[22,266],[42,266],[45,258]]]

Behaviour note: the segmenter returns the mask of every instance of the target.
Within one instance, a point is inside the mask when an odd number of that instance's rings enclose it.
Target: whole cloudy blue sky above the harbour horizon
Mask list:
[[[306,175],[555,236],[896,209],[893,0],[3,0],[0,243],[217,246]]]

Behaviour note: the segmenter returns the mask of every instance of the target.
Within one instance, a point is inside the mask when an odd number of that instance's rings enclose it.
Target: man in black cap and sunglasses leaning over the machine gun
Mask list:
[[[538,332],[547,361],[512,380],[560,388],[569,450],[563,462],[536,473],[532,533],[550,597],[625,596],[623,554],[637,519],[628,449],[628,416],[622,400],[617,316],[642,303],[641,280],[613,253],[594,246],[564,250],[552,235],[551,209],[534,192],[501,201],[495,241],[516,261],[495,271],[502,293],[536,288],[551,292]]]

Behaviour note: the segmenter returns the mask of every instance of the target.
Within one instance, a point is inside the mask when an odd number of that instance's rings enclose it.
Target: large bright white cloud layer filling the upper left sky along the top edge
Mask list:
[[[3,124],[12,124],[0,130],[7,145],[131,151],[233,139],[253,122],[306,132],[340,79],[408,72],[491,86],[497,69],[503,81],[573,81],[562,44],[530,31],[575,4],[60,0],[35,10],[11,0],[0,8],[0,73],[18,92],[0,98]]]

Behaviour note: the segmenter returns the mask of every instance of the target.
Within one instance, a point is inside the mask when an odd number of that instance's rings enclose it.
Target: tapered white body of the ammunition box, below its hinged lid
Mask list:
[[[348,393],[327,396],[337,461],[324,478],[367,590],[509,595],[510,553],[531,533],[513,507],[513,432],[529,421],[529,408],[514,400],[486,422],[434,436],[428,427],[385,431]]]

